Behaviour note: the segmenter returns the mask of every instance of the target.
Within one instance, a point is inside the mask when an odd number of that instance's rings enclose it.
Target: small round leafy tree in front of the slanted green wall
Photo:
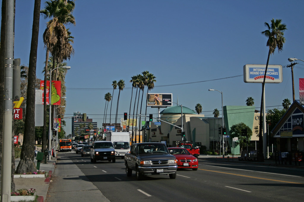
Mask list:
[[[242,129],[247,129],[247,136],[244,137],[241,135]],[[244,147],[247,147],[248,142],[251,140],[252,136],[252,130],[250,127],[248,127],[246,124],[243,122],[234,124],[233,126],[230,127],[230,138],[233,139],[233,137],[238,137],[239,141],[235,142],[235,146],[240,145],[241,147],[241,152],[243,151]],[[247,140],[246,142],[244,140]]]

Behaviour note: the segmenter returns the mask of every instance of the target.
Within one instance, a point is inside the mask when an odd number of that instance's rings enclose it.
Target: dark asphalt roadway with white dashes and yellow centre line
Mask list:
[[[198,171],[178,170],[176,179],[159,175],[138,181],[134,171],[132,177],[126,176],[123,159],[92,164],[89,156],[60,152],[57,167],[61,166],[60,159],[68,160],[65,164],[75,164],[84,175],[76,178],[92,182],[113,202],[303,201],[304,198],[304,169],[199,159]]]

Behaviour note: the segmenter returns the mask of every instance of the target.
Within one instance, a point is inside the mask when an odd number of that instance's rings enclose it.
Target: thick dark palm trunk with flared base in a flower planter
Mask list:
[[[32,28],[32,40],[29,53],[29,74],[26,100],[26,118],[24,124],[24,139],[20,154],[20,161],[17,166],[17,173],[27,173],[36,171],[34,163],[33,147],[35,142],[35,81],[36,81],[36,62],[37,47],[40,21],[40,3],[41,0],[35,0],[34,16]]]

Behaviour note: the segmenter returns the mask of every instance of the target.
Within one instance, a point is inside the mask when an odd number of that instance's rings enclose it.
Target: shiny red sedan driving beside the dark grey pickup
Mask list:
[[[178,168],[192,168],[193,171],[197,171],[199,167],[199,161],[192,156],[190,152],[182,147],[168,147],[170,154],[177,159]]]

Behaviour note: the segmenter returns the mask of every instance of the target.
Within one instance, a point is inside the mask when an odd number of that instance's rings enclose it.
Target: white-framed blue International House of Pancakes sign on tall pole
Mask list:
[[[244,65],[245,83],[263,83],[266,65]],[[265,83],[281,83],[282,65],[268,65]]]

